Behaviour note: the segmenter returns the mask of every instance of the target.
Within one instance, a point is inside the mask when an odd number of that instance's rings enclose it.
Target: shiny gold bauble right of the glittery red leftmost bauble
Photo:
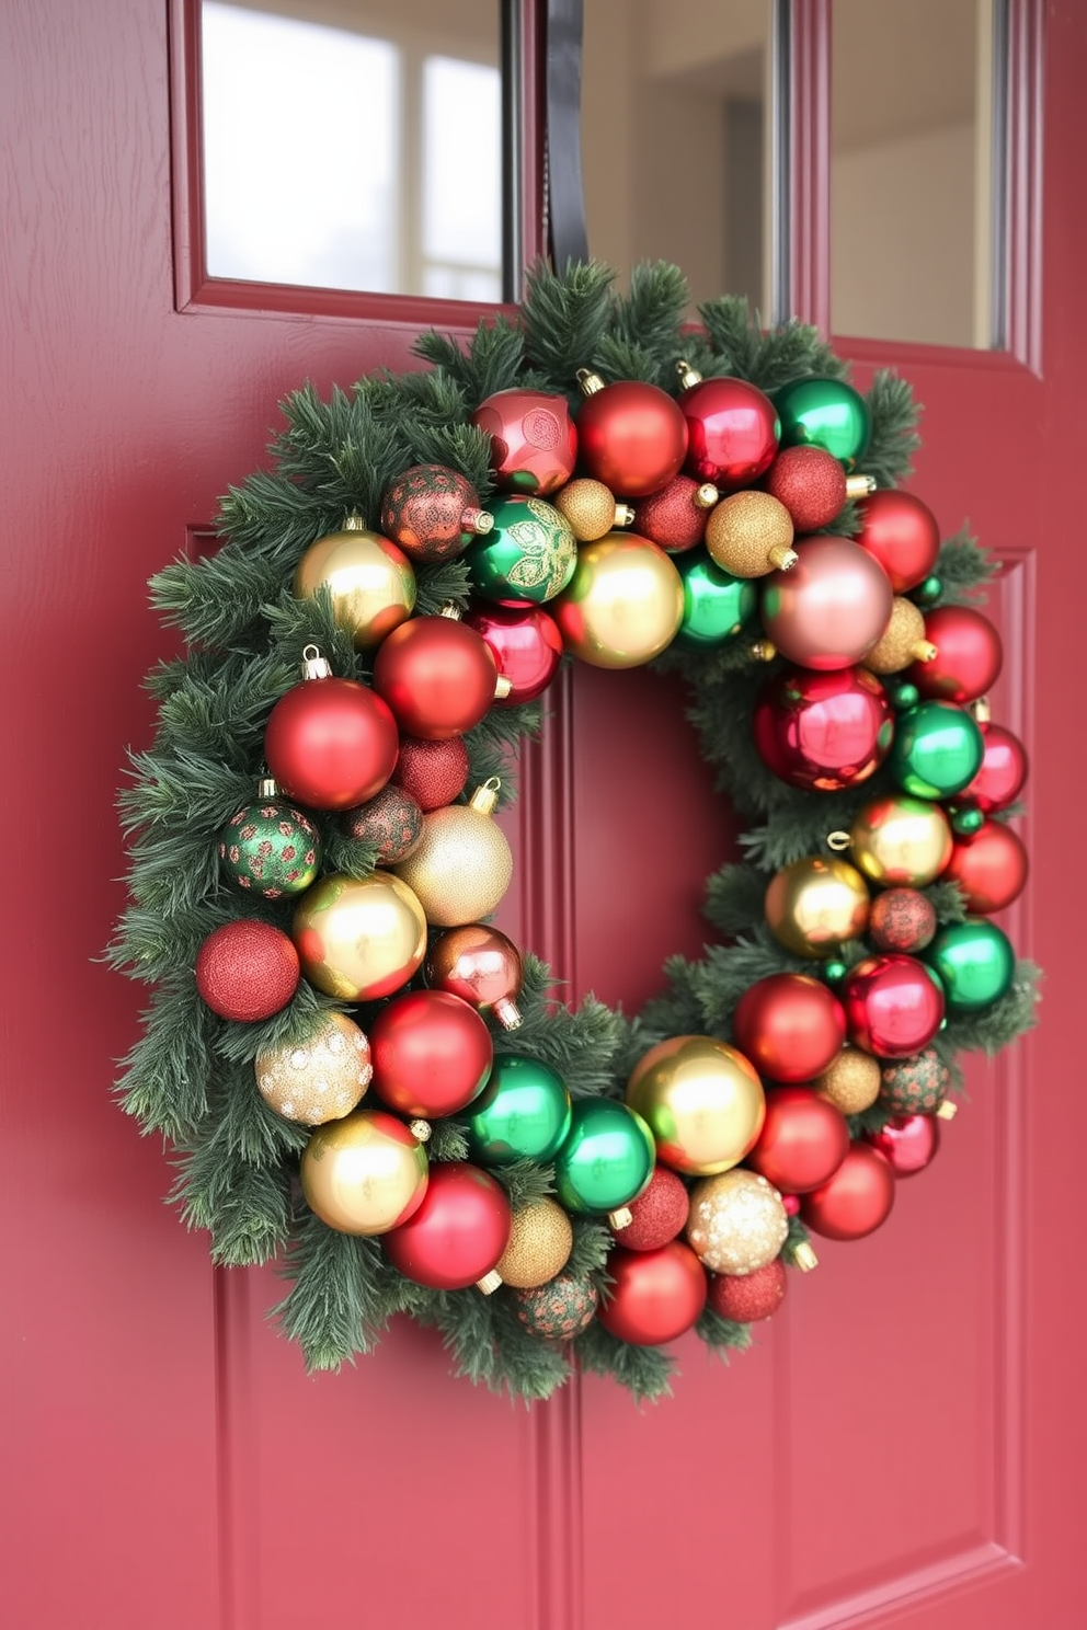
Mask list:
[[[290,932],[310,985],[349,1002],[391,996],[427,950],[422,906],[388,872],[323,877],[298,901]]]

